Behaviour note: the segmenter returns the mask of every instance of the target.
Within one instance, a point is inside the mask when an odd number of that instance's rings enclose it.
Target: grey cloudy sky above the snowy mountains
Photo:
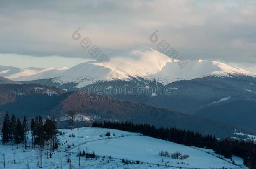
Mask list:
[[[71,67],[91,59],[80,28],[106,55],[146,45],[158,30],[187,60],[222,61],[256,72],[255,0],[1,1],[0,65]]]

